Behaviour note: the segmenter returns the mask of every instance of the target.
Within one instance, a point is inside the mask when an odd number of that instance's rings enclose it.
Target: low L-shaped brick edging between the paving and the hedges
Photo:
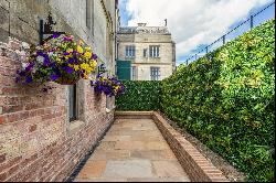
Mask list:
[[[115,118],[151,118],[193,182],[230,182],[191,142],[156,111],[116,111]]]

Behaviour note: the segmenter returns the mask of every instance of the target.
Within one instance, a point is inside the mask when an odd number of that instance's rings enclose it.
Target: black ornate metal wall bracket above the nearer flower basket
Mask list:
[[[51,13],[47,15],[47,20],[44,23],[43,20],[40,20],[40,45],[42,45],[45,41],[49,41],[53,37],[54,34],[65,34],[65,32],[55,32],[53,31],[53,25],[55,25],[56,22],[53,21],[53,18]],[[43,35],[51,34],[49,37],[43,39]]]

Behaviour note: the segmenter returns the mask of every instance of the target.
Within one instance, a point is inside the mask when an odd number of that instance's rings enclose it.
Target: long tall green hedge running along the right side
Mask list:
[[[162,83],[162,111],[250,181],[274,180],[274,35],[272,20]]]

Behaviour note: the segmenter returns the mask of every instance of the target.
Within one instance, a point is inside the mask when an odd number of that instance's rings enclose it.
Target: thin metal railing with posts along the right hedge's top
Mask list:
[[[234,40],[235,37],[244,34],[245,32],[252,30],[253,28],[262,24],[263,22],[275,18],[275,1],[267,6],[266,8],[262,9],[255,14],[252,14],[247,20],[244,22],[240,23],[237,26],[229,31],[226,34],[221,36],[220,39],[215,40],[213,43],[210,45],[205,46],[204,49],[200,50],[197,54],[193,56],[189,57],[185,61],[185,64],[190,64],[194,61],[197,61],[200,57],[203,57],[206,53],[212,52],[220,46],[224,45],[225,43]]]

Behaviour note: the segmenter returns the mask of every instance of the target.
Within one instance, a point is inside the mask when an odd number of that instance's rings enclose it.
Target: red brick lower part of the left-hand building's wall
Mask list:
[[[79,121],[67,120],[67,86],[44,94],[14,83],[19,45],[0,43],[0,182],[64,181],[114,119],[105,96],[79,82]]]

